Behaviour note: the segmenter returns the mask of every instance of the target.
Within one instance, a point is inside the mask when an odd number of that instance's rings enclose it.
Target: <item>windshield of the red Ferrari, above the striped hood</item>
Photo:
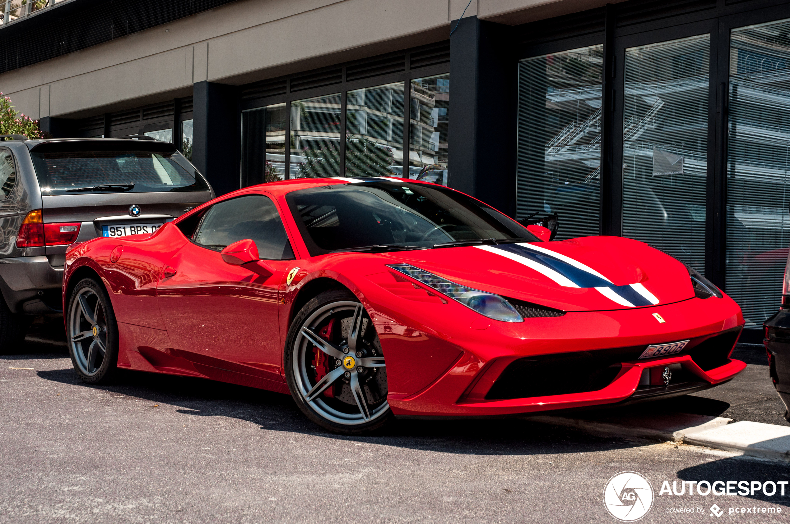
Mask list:
[[[286,197],[312,256],[370,245],[432,248],[525,238],[524,226],[453,189],[408,182],[323,185]]]

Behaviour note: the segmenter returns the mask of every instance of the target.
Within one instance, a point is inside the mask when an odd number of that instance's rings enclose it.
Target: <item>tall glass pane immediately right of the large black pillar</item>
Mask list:
[[[603,56],[597,45],[518,66],[516,215],[556,211],[556,240],[600,232]]]

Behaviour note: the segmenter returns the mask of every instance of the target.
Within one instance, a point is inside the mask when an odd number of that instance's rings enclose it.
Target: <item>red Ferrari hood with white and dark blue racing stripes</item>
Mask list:
[[[563,311],[630,309],[694,297],[683,263],[629,238],[400,251],[386,258],[477,290]]]

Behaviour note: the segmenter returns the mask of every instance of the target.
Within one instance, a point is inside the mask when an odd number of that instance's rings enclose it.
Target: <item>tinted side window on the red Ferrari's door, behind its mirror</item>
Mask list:
[[[214,204],[206,211],[192,241],[222,251],[233,242],[251,238],[262,259],[294,257],[280,214],[269,197],[249,195]]]

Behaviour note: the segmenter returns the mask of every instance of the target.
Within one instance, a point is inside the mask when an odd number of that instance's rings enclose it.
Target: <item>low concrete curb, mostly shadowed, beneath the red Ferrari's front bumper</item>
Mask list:
[[[617,436],[641,436],[649,439],[682,442],[693,433],[728,425],[731,418],[687,413],[652,414],[650,416],[596,417],[590,419],[538,415],[527,417],[544,424],[570,426],[589,432]]]

